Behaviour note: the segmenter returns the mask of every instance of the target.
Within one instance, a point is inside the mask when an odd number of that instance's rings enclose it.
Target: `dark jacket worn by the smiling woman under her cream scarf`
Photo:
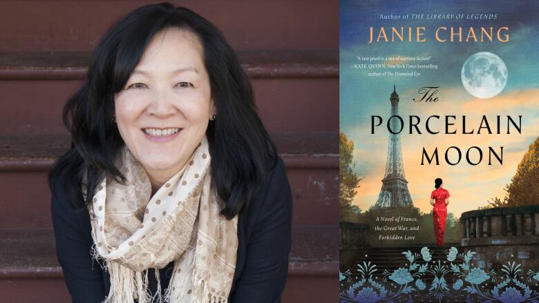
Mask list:
[[[90,255],[93,244],[88,212],[75,213],[55,180],[51,211],[56,253],[64,280],[75,303],[102,302],[110,289],[110,275]],[[230,303],[281,302],[288,272],[292,229],[292,194],[283,160],[268,173],[263,190],[238,217],[238,253]],[[167,288],[173,262],[159,270],[161,289]],[[154,294],[155,271],[149,270]]]

